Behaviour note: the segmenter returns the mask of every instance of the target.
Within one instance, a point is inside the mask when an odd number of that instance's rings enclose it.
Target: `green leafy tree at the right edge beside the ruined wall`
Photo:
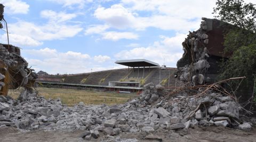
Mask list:
[[[246,76],[241,84],[243,90],[253,94],[256,78],[256,5],[243,0],[217,0],[213,8],[214,17],[233,24],[224,35],[223,54],[233,53],[220,64],[220,78]],[[230,83],[234,88],[239,81]],[[251,95],[251,94],[247,94]]]

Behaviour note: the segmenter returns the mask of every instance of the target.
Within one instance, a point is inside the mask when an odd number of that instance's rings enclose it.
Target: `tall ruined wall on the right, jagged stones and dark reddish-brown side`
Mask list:
[[[184,54],[177,62],[177,77],[195,85],[215,81],[218,61],[223,56],[223,34],[233,26],[217,19],[202,20],[200,28],[189,32],[182,43]]]

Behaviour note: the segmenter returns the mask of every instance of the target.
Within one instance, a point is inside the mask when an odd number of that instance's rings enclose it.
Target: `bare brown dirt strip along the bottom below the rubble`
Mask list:
[[[256,141],[255,128],[251,131],[241,131],[223,127],[197,127],[195,129],[180,131],[156,131],[155,136],[161,137],[163,141]],[[0,128],[0,141],[81,141],[79,136],[83,133],[77,131],[28,131],[21,132],[19,129],[12,127]],[[102,134],[101,134],[102,135]],[[146,140],[147,136],[143,132],[122,133],[121,139],[136,138],[138,141],[156,141]],[[117,137],[117,136],[116,136]],[[106,138],[93,139],[91,141],[101,141]],[[84,140],[85,141],[85,140]],[[114,141],[114,140],[113,140]]]

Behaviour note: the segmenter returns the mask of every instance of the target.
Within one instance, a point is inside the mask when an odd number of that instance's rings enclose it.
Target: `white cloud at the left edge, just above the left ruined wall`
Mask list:
[[[2,34],[0,37],[3,43],[7,43],[7,34]],[[36,47],[43,45],[43,42],[39,42],[33,38],[28,36],[21,36],[19,34],[10,34],[9,33],[9,42],[15,46],[28,46],[28,47]]]

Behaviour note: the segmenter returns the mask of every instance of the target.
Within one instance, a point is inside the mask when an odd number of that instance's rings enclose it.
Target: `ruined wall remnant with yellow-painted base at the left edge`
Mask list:
[[[0,28],[3,28],[4,12],[3,4],[0,4]],[[7,24],[6,30],[7,30]],[[8,30],[7,30],[8,33]],[[8,34],[7,34],[8,35]],[[30,88],[34,86],[37,74],[28,67],[27,61],[20,56],[20,48],[0,43],[0,95],[7,95],[9,88],[20,86]]]

